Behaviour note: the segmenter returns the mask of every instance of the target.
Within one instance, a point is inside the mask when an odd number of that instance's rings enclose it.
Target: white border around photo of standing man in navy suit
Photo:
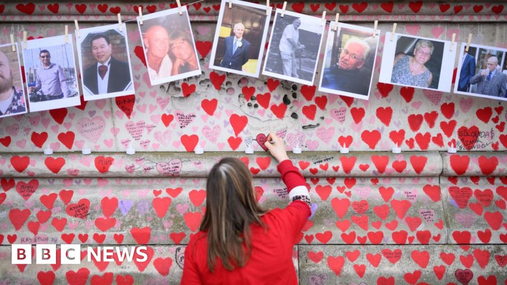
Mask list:
[[[225,9],[229,9],[229,1],[232,1],[232,5],[233,6],[234,5],[241,5],[241,6],[247,6],[247,7],[252,7],[252,8],[256,8],[256,9],[261,9],[262,11],[265,11],[265,12],[268,11],[268,15],[266,15],[266,22],[264,24],[264,31],[262,33],[262,41],[261,41],[261,45],[260,45],[261,48],[260,48],[260,51],[259,51],[259,58],[258,58],[258,61],[257,61],[256,72],[253,73],[253,74],[252,73],[243,72],[243,71],[240,71],[240,70],[236,70],[236,69],[232,69],[232,68],[225,68],[225,67],[213,64],[213,62],[215,60],[216,46],[218,45],[218,42],[219,42],[220,27],[222,25],[222,21],[223,21],[223,18],[224,18],[224,10]],[[271,20],[272,11],[273,11],[273,9],[271,8],[271,6],[266,7],[266,5],[260,5],[260,4],[255,4],[255,3],[244,2],[244,1],[241,1],[241,0],[222,0],[222,2],[220,4],[219,19],[218,19],[218,21],[216,23],[216,29],[215,29],[215,35],[214,35],[214,40],[213,40],[213,46],[211,48],[211,56],[209,58],[209,68],[215,69],[215,70],[220,70],[220,71],[227,72],[227,73],[234,73],[234,74],[239,74],[239,75],[259,78],[259,74],[261,73],[262,59],[263,59],[263,56],[264,56],[264,49],[265,49],[264,47],[266,46],[266,37],[267,37],[267,34],[268,34],[268,29],[269,29],[269,21]]]

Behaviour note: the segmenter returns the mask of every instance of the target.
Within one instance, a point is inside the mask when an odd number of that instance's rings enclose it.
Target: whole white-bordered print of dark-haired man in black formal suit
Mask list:
[[[76,40],[86,101],[134,94],[125,23],[81,29]]]

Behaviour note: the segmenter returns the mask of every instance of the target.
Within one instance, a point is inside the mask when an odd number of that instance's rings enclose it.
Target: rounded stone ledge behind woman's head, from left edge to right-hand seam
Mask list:
[[[206,177],[222,157],[242,159],[256,177],[278,177],[278,164],[265,152],[205,153],[76,153],[1,154],[3,177]],[[439,152],[305,152],[289,154],[305,177],[411,177],[439,176]]]

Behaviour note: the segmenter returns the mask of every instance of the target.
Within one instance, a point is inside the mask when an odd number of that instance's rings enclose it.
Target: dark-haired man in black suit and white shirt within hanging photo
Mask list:
[[[93,94],[121,92],[132,85],[128,62],[112,56],[113,48],[105,33],[97,33],[91,39],[92,55],[96,62],[84,71],[84,85]]]

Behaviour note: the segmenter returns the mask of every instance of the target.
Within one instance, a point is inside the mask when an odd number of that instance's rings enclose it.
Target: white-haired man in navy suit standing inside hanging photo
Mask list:
[[[236,23],[233,28],[234,35],[225,38],[224,59],[220,63],[221,67],[241,70],[243,64],[248,61],[250,43],[243,39],[245,26],[242,23]]]

